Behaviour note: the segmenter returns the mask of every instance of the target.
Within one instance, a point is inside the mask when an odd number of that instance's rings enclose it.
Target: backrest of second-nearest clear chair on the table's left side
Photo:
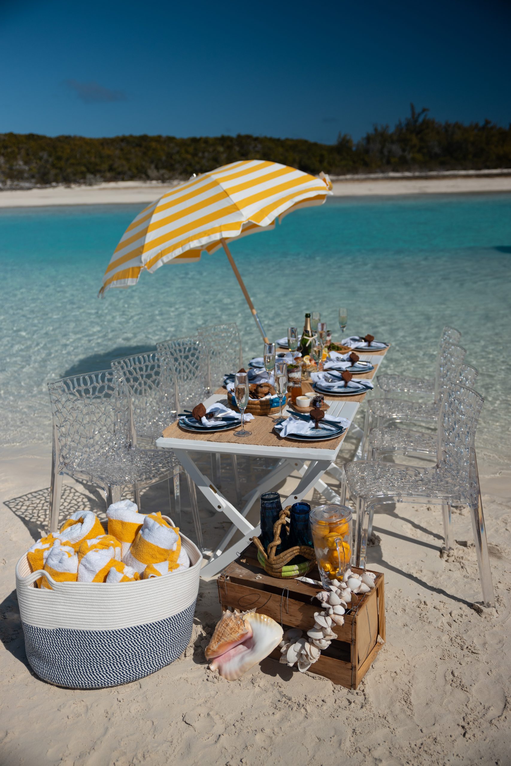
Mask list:
[[[112,368],[123,375],[131,398],[135,439],[155,440],[177,414],[175,377],[167,354],[153,351],[114,359]],[[136,443],[136,442],[135,442]]]

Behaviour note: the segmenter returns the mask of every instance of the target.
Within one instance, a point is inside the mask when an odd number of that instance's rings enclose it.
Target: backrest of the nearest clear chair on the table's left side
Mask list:
[[[58,470],[92,454],[132,444],[129,394],[118,370],[89,372],[48,383],[53,416],[54,459]]]

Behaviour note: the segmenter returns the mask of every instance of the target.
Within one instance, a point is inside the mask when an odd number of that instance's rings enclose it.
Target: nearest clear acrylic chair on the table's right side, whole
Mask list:
[[[441,457],[432,468],[400,466],[378,460],[359,460],[346,465],[349,494],[356,504],[355,565],[365,567],[375,506],[397,502],[441,504],[445,547],[449,550],[452,548],[450,506],[466,505],[472,519],[483,602],[486,606],[494,605],[474,447],[483,401],[477,391],[460,384],[447,388],[438,430],[437,452]]]

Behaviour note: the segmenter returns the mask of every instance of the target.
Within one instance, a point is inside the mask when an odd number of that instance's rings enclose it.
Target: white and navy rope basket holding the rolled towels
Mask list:
[[[70,689],[103,689],[177,660],[192,638],[201,552],[185,535],[188,569],[124,583],[55,582],[16,565],[25,650],[34,673]],[[41,575],[52,590],[35,588]]]

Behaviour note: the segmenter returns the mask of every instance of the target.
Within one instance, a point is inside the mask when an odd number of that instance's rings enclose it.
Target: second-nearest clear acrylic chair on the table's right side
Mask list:
[[[473,388],[477,374],[475,367],[461,365],[458,379],[464,387]],[[385,453],[400,452],[406,456],[420,455],[437,460],[440,417],[441,411],[438,413],[437,429],[429,432],[408,428],[373,428],[369,432],[370,459],[378,460]]]

